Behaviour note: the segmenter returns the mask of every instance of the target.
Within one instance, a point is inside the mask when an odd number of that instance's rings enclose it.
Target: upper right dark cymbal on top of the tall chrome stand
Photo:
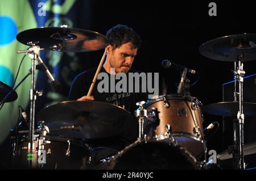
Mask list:
[[[243,61],[256,60],[256,33],[243,33],[223,36],[207,41],[199,52],[210,59],[218,61],[237,61],[243,55]]]

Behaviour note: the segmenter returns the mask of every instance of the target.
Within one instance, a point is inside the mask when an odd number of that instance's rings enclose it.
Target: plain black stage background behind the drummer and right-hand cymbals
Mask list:
[[[217,4],[217,16],[209,16],[208,7],[212,1],[90,1],[89,23],[77,20],[76,28],[97,31],[105,35],[116,24],[126,24],[141,35],[142,46],[138,51],[133,68],[145,72],[159,72],[168,86],[168,94],[176,91],[179,72],[163,70],[161,62],[168,59],[199,72],[200,79],[191,87],[191,95],[203,105],[221,102],[222,83],[233,81],[233,62],[210,60],[201,56],[199,47],[206,41],[237,33],[256,33],[255,6],[252,1],[213,1]],[[84,2],[78,1],[81,8]],[[84,6],[83,6],[84,5]],[[90,6],[90,8],[88,8]],[[79,11],[79,16],[88,13]],[[84,18],[83,18],[84,19]],[[79,68],[76,74],[98,65],[103,50],[77,53]],[[71,60],[72,61],[72,58]],[[256,61],[245,62],[246,75],[256,73]],[[193,77],[192,77],[193,80]],[[69,88],[62,90],[65,98]],[[231,94],[231,92],[230,92]],[[39,98],[37,110],[42,110],[46,101]],[[213,121],[220,123],[220,129],[208,139],[208,150],[217,153],[232,144],[232,132],[222,132],[222,117],[204,113],[204,127]],[[245,120],[246,121],[246,120]],[[245,123],[246,124],[246,123]],[[228,125],[232,127],[232,124]],[[226,128],[225,128],[226,129]],[[255,128],[256,131],[256,128]],[[246,140],[245,140],[246,142]]]

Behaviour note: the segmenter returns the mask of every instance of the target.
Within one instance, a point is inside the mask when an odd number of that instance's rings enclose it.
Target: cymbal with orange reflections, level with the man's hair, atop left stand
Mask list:
[[[89,30],[65,27],[40,27],[20,32],[16,39],[25,45],[31,42],[40,48],[63,52],[90,52],[109,44],[106,36]]]

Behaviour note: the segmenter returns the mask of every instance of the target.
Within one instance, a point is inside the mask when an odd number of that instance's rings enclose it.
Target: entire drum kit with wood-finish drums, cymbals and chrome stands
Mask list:
[[[85,140],[117,136],[130,128],[130,125],[137,124],[137,141],[117,154],[102,159],[101,164],[93,169],[204,169],[207,145],[203,112],[208,112],[212,115],[237,117],[234,120],[234,169],[245,169],[244,117],[255,115],[256,103],[243,102],[243,64],[256,59],[256,34],[220,37],[199,48],[205,57],[234,62],[234,102],[203,106],[189,94],[189,79],[186,77],[187,69],[184,69],[177,94],[159,95],[147,102],[137,103],[138,109],[134,116],[119,106],[97,101],[65,101],[48,106],[35,115],[38,95],[35,90],[36,61],[43,64],[44,70],[48,70],[38,55],[39,51],[89,52],[105,48],[108,39],[97,32],[67,26],[26,30],[20,32],[16,39],[30,45],[30,48],[18,53],[29,53],[32,60],[30,129],[16,129],[13,132],[13,157],[16,165],[27,165],[32,169],[81,169],[81,165],[90,163],[93,150],[92,145]],[[98,70],[105,54],[106,51]],[[49,71],[47,73],[51,77]],[[237,87],[239,92],[236,91]],[[15,89],[0,82],[0,106],[17,98]],[[38,124],[36,129],[35,121]]]

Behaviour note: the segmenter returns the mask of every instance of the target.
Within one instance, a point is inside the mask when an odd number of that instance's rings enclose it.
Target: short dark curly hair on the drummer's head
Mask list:
[[[111,28],[106,37],[109,39],[109,44],[115,48],[121,47],[122,44],[132,43],[134,48],[138,48],[141,45],[141,38],[139,35],[126,25],[117,24]]]

